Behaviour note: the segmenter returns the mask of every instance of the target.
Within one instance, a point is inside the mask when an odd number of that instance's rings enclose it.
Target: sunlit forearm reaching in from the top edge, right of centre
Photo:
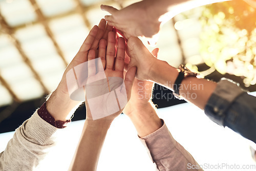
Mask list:
[[[230,1],[230,0],[144,0],[148,5],[149,14],[157,17],[159,22],[165,22],[175,15],[208,4]],[[154,11],[154,12],[152,12]]]

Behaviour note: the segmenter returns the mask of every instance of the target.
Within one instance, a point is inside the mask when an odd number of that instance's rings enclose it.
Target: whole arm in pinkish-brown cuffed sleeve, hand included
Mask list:
[[[154,50],[153,54],[156,53],[157,51]],[[131,100],[123,111],[132,120],[141,142],[148,149],[150,158],[158,170],[186,170],[189,165],[199,166],[195,159],[175,141],[163,120],[157,116],[150,100],[152,86],[151,81],[135,79]]]

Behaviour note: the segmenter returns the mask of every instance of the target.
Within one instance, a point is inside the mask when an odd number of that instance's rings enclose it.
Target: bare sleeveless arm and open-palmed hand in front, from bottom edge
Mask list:
[[[118,47],[117,47],[117,54],[115,54],[115,34],[114,32],[109,32],[108,36],[108,46],[106,47],[106,42],[102,39],[100,40],[99,44],[99,57],[101,57],[102,65],[103,65],[103,73],[106,75],[108,79],[108,83],[106,87],[104,84],[93,84],[92,87],[87,86],[87,93],[86,93],[86,106],[87,106],[87,118],[86,122],[84,123],[82,135],[80,137],[78,146],[76,148],[76,152],[72,163],[70,165],[70,170],[96,170],[98,159],[100,156],[101,148],[108,132],[108,129],[111,125],[111,122],[117,117],[123,110],[122,101],[123,96],[126,96],[126,101],[129,101],[131,96],[131,89],[132,84],[134,81],[136,68],[131,68],[127,71],[124,79],[125,84],[125,91],[122,88],[119,90],[116,86],[116,81],[123,80],[123,68],[124,68],[124,49],[125,43],[123,38],[118,39]],[[95,59],[95,51],[90,50],[89,52],[89,62],[88,62],[88,71],[89,71],[89,78],[88,80],[98,78],[101,75],[100,67],[95,67],[93,61]],[[100,58],[99,58],[100,60]],[[101,65],[101,63],[100,63]],[[102,67],[101,65],[101,67]],[[91,74],[90,74],[91,73]],[[93,74],[92,74],[93,73]],[[95,74],[97,73],[97,74]],[[115,81],[112,81],[116,79]],[[96,81],[92,81],[96,82]],[[99,82],[98,82],[99,83]],[[103,82],[104,83],[104,82]],[[108,86],[109,85],[109,86]],[[112,89],[114,88],[114,89]],[[102,90],[107,90],[107,93],[103,95],[94,93],[99,93]],[[114,99],[111,98],[111,93],[117,95]],[[108,95],[109,93],[109,95]],[[94,98],[90,98],[93,96]],[[96,100],[94,100],[96,98]],[[118,99],[119,109],[117,112],[109,113],[112,111],[115,106],[113,106],[114,102]],[[96,119],[95,119],[96,118]]]

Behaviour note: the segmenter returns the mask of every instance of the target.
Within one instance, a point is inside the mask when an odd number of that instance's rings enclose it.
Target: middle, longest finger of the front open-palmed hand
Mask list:
[[[115,60],[115,44],[115,33],[111,31],[108,35],[108,46],[106,48],[106,69],[113,69]]]

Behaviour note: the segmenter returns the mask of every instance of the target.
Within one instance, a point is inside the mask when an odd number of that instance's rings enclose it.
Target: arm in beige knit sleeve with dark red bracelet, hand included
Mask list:
[[[105,23],[102,19],[100,25],[105,27]],[[88,50],[97,49],[94,46],[98,44],[96,37],[102,34],[98,26],[93,27],[79,52],[67,67],[57,89],[48,98],[46,108],[44,105],[41,106],[40,109],[44,107],[44,112],[49,112],[55,121],[65,122],[70,119],[73,110],[80,103],[69,97],[66,74],[78,63],[88,60]],[[42,119],[39,115],[40,109],[15,130],[5,151],[0,154],[0,170],[33,170],[55,145],[56,132],[60,129]]]

